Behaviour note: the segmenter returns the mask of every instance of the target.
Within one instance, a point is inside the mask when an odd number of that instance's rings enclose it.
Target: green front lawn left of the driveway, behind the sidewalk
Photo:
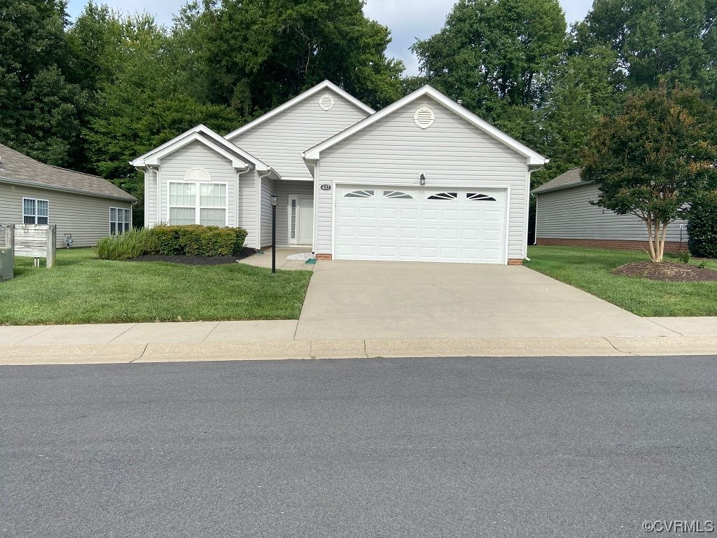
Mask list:
[[[49,270],[15,259],[15,278],[0,283],[0,324],[297,319],[310,277],[239,263],[108,261],[92,249],[57,250]]]

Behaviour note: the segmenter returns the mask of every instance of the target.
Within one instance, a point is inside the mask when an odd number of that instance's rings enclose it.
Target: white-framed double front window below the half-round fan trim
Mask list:
[[[227,225],[227,185],[170,183],[169,224]]]

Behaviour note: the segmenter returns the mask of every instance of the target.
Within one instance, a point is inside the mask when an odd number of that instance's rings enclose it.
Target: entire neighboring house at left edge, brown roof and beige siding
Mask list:
[[[73,247],[132,227],[137,199],[106,179],[49,166],[0,144],[0,226],[57,225],[57,247]],[[4,232],[0,232],[4,242]]]

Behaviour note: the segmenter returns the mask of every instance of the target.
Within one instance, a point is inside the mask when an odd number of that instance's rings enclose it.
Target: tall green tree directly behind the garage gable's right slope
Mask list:
[[[431,84],[495,119],[506,107],[542,105],[565,48],[558,0],[459,0],[412,50]]]

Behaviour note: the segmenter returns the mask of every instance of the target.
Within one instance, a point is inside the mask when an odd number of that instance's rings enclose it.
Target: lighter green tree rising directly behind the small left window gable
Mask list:
[[[173,38],[152,16],[125,16],[90,4],[70,33],[75,46],[93,51],[78,55],[75,64],[95,88],[82,129],[87,163],[141,202],[143,181],[131,159],[199,123],[219,132],[241,124],[231,108],[189,95],[190,75],[178,69]],[[142,209],[141,203],[133,213],[136,225]]]

